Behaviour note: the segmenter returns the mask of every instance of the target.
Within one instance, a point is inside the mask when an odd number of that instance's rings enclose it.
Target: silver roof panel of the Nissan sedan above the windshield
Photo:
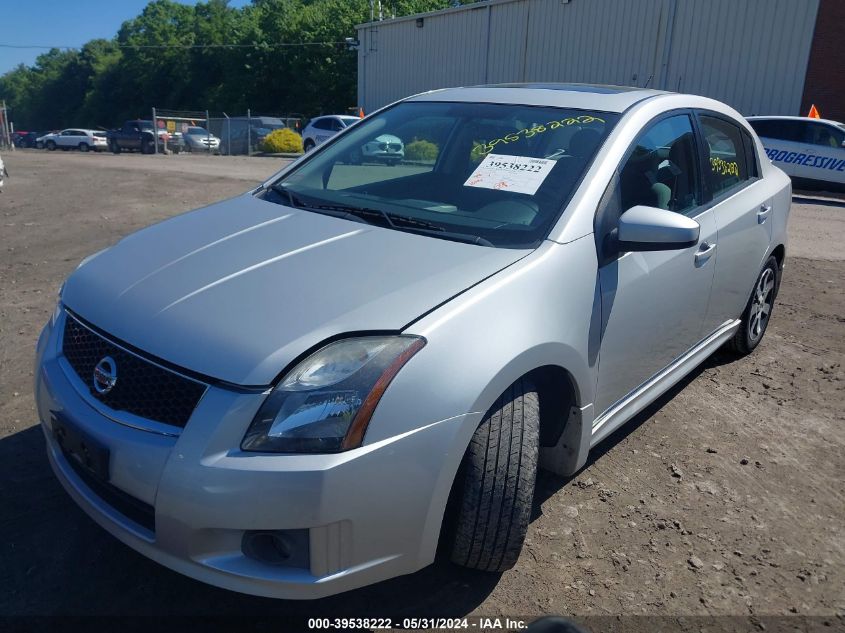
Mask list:
[[[489,84],[465,88],[444,88],[410,97],[409,101],[470,101],[480,103],[510,103],[624,112],[631,106],[669,94],[662,90],[632,86],[606,86],[575,83],[518,83]]]

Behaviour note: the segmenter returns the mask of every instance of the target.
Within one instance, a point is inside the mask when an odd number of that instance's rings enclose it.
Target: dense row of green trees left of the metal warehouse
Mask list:
[[[385,17],[452,0],[383,0]],[[0,77],[19,129],[112,127],[153,106],[244,113],[341,112],[356,103],[357,56],[343,43],[369,0],[152,0],[112,40],[51,49]]]

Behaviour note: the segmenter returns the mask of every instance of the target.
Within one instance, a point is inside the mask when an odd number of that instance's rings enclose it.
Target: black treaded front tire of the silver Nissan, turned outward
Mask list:
[[[464,455],[452,562],[490,572],[516,564],[531,517],[539,436],[537,392],[521,378],[484,416]]]

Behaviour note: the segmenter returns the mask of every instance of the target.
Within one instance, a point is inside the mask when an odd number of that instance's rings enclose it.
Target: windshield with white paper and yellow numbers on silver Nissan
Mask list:
[[[618,119],[563,108],[404,102],[364,119],[263,195],[400,231],[533,247]]]

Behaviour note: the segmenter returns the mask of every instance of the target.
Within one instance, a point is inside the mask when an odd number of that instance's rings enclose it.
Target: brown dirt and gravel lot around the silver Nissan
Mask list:
[[[82,257],[238,194],[283,162],[34,150],[4,160],[0,614],[800,614],[842,626],[841,201],[796,198],[781,294],[753,355],[709,359],[575,477],[541,474],[514,570],[486,576],[438,563],[298,603],[205,586],[98,528],[50,472],[31,388],[36,337]]]

